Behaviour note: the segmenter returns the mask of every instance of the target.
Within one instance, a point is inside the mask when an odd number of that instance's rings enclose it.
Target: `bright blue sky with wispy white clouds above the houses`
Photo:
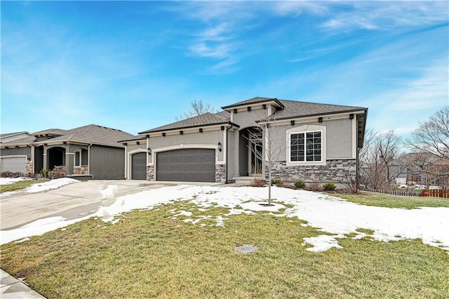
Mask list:
[[[1,1],[1,132],[136,134],[262,96],[406,135],[449,105],[448,3]]]

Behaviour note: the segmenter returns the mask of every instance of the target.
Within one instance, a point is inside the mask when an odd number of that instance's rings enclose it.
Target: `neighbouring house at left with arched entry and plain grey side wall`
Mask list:
[[[123,179],[126,132],[91,124],[71,130],[48,129],[1,143],[0,171],[39,173],[66,166],[72,175]]]

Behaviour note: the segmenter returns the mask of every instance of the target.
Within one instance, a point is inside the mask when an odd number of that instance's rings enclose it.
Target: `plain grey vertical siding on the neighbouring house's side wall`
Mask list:
[[[91,175],[98,180],[125,178],[125,149],[91,146]]]

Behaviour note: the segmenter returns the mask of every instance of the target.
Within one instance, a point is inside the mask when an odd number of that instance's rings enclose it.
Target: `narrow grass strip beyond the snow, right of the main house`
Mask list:
[[[429,206],[449,208],[449,199],[442,197],[400,197],[380,193],[330,195],[366,206],[384,206],[388,208],[419,208]]]

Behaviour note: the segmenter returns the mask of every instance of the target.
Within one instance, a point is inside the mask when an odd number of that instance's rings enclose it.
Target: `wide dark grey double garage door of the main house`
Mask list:
[[[215,150],[186,149],[157,153],[156,180],[215,182]]]

